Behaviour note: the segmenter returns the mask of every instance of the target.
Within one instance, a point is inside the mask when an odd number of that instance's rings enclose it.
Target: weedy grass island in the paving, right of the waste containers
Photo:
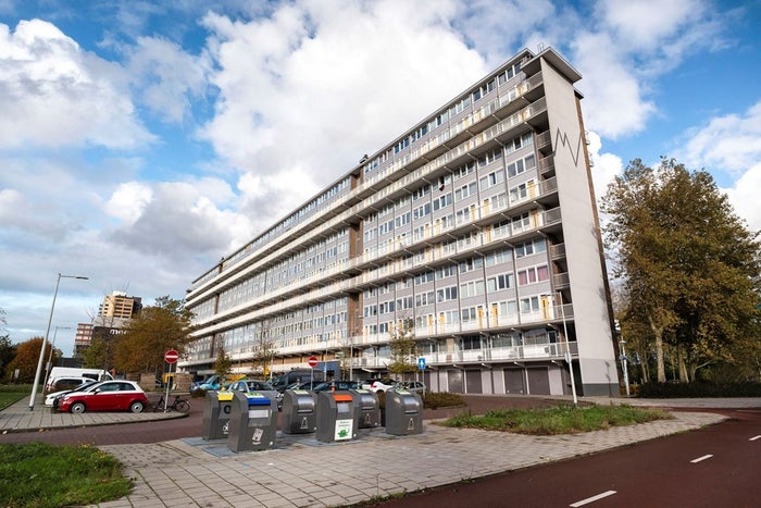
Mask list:
[[[445,426],[483,429],[532,435],[575,434],[671,419],[660,409],[632,406],[558,406],[536,409],[494,409],[483,416],[460,413],[441,422]]]

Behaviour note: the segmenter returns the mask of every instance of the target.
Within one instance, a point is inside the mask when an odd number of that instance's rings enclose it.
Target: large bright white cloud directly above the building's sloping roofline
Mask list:
[[[251,23],[207,16],[220,99],[202,135],[251,173],[238,183],[249,212],[282,216],[486,72],[439,5],[297,2]],[[284,181],[285,198],[273,193]]]

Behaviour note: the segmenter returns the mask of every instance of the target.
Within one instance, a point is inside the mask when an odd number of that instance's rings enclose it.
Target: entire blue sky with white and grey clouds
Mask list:
[[[599,195],[674,157],[759,230],[759,0],[0,0],[5,329],[45,333],[59,273],[89,277],[61,280],[67,356],[103,295],[182,298],[523,48],[584,76]]]

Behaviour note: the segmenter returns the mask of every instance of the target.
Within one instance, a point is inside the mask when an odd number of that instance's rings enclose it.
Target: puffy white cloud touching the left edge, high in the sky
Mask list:
[[[0,148],[150,143],[120,73],[48,22],[0,24]]]

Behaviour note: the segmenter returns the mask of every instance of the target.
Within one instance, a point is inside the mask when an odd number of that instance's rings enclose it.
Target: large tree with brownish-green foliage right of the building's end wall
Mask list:
[[[646,331],[665,382],[664,347],[682,381],[719,361],[737,361],[761,293],[758,233],[750,233],[704,171],[673,159],[651,169],[634,160],[603,197],[604,233],[626,295],[623,322]]]

